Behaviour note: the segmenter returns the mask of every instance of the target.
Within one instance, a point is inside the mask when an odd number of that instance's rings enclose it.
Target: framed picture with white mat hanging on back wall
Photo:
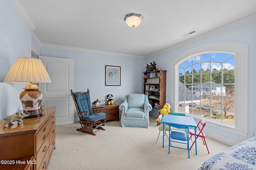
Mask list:
[[[105,86],[121,86],[121,67],[105,65]]]

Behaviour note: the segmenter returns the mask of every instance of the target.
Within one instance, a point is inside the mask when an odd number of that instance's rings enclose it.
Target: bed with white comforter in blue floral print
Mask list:
[[[256,170],[256,137],[212,156],[198,170]]]

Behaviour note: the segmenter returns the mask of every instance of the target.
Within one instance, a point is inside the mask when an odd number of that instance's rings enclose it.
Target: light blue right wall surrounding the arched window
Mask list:
[[[170,103],[171,106],[174,106],[173,101],[171,101],[171,94],[170,92],[170,76],[172,73],[170,70],[171,62],[184,53],[185,51],[188,51],[189,49],[192,49],[194,47],[208,44],[208,43],[218,43],[218,42],[232,42],[232,43],[241,43],[246,44],[249,46],[249,75],[248,75],[248,112],[249,112],[249,119],[248,119],[248,129],[250,133],[248,133],[247,137],[242,137],[240,135],[236,135],[234,133],[229,133],[226,131],[222,131],[220,129],[214,129],[213,127],[206,126],[205,130],[209,131],[211,133],[214,133],[216,135],[220,135],[223,138],[231,139],[233,141],[243,141],[245,139],[248,139],[252,137],[252,132],[256,131],[256,114],[255,114],[255,96],[256,96],[256,90],[255,84],[256,84],[256,78],[255,78],[255,63],[256,63],[256,21],[252,21],[250,23],[241,25],[239,27],[235,27],[233,29],[230,29],[228,31],[224,31],[222,33],[218,33],[216,35],[213,35],[211,37],[202,39],[200,41],[196,41],[194,43],[190,43],[189,45],[185,45],[183,47],[168,51],[166,53],[162,53],[161,55],[158,55],[156,57],[152,57],[147,60],[148,63],[155,61],[156,64],[158,64],[159,67],[164,68],[164,70],[167,70],[167,81],[166,81],[166,102]],[[171,108],[171,111],[174,111],[174,107]]]

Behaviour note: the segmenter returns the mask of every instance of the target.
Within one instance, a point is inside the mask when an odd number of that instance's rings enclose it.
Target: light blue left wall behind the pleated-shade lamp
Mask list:
[[[31,57],[31,30],[9,0],[0,0],[0,120],[22,110],[26,84],[2,82],[18,57]]]

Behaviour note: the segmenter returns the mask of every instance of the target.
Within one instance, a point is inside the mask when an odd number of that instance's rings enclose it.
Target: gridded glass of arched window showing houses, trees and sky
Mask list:
[[[180,63],[178,110],[234,125],[234,70],[235,55],[229,53],[202,53]]]

